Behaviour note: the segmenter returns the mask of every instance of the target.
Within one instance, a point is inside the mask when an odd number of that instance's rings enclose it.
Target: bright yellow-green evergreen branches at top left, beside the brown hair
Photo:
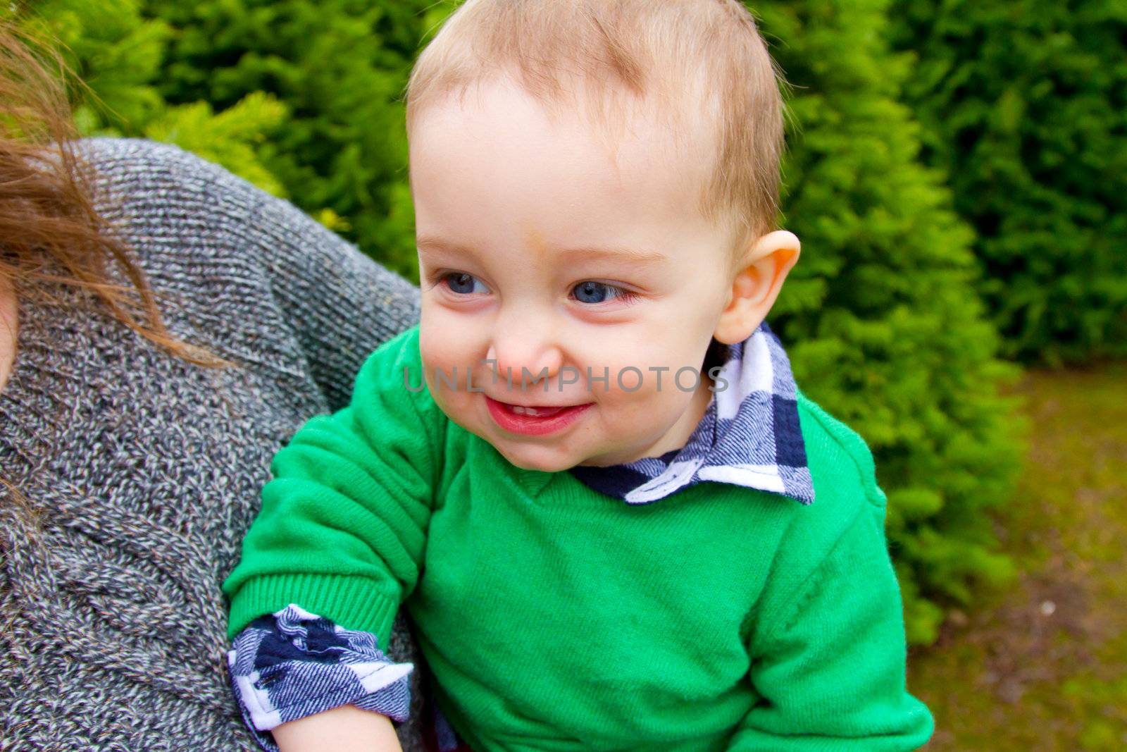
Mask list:
[[[259,187],[284,195],[259,149],[285,118],[285,107],[261,94],[213,113],[206,101],[166,103],[161,74],[172,28],[144,19],[134,0],[41,0],[15,6],[27,29],[60,43],[86,88],[72,91],[74,120],[86,135],[144,136],[175,143],[223,165]]]

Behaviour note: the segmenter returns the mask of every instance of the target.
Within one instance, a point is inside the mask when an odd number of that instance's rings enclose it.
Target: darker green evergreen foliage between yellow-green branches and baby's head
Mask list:
[[[174,29],[170,103],[228,107],[261,91],[290,116],[260,153],[291,201],[417,280],[402,89],[437,19],[418,0],[145,0]]]

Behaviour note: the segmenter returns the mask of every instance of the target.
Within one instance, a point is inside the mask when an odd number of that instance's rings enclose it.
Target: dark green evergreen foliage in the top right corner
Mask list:
[[[898,0],[891,18],[1005,353],[1127,354],[1127,5]]]

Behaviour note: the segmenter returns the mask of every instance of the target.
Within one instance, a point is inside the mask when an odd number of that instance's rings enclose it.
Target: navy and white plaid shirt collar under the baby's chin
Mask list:
[[[574,467],[569,472],[628,504],[650,504],[706,480],[813,504],[797,387],[782,343],[763,321],[751,337],[727,350],[718,388],[683,448],[625,465]]]

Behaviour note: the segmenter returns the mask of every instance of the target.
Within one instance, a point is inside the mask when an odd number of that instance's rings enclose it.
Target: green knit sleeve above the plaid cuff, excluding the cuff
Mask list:
[[[309,421],[274,458],[263,507],[223,583],[229,637],[296,603],[388,645],[419,576],[441,472],[444,416],[417,384],[418,329],[380,347],[348,407]]]

